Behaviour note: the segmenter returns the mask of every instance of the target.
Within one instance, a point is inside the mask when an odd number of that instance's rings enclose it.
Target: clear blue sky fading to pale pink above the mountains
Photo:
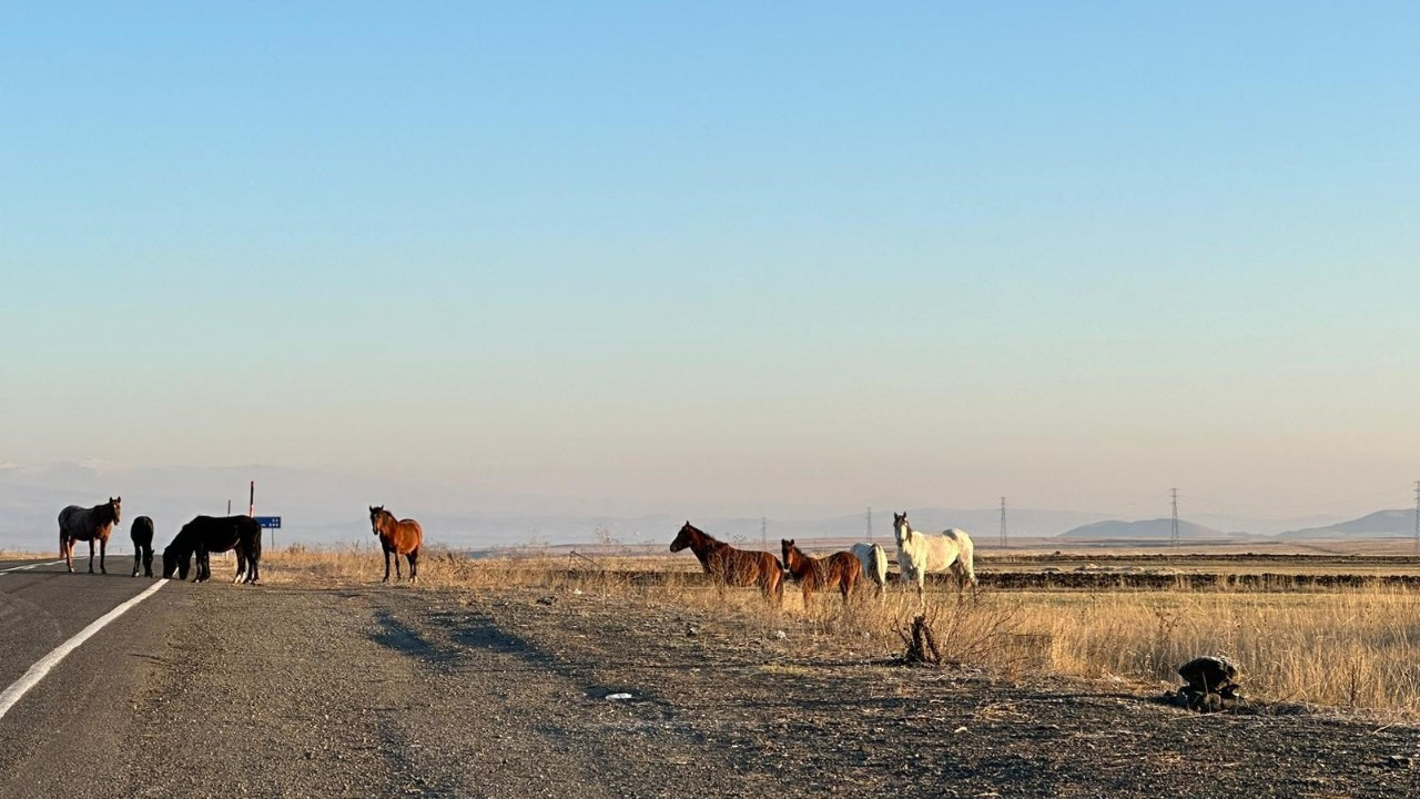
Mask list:
[[[1413,3],[0,31],[0,462],[1140,515],[1420,478]]]

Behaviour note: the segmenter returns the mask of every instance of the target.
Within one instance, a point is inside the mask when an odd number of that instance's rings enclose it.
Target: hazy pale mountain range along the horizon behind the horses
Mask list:
[[[771,540],[863,539],[863,512],[845,513],[825,506],[754,508],[743,505],[629,502],[540,495],[493,495],[466,486],[425,485],[280,466],[138,469],[114,463],[53,463],[26,466],[0,463],[0,547],[57,549],[55,516],[67,505],[97,505],[109,496],[124,498],[124,533],[116,550],[128,550],[126,529],[136,516],[152,516],[159,540],[169,539],[187,519],[244,513],[248,481],[257,483],[257,513],[280,515],[278,546],[329,545],[371,540],[369,505],[386,505],[399,516],[417,518],[429,540],[454,547],[518,545],[669,542],[680,525],[692,520],[728,542],[758,542],[761,519]],[[892,540],[893,510],[875,506],[872,535]],[[1000,532],[998,508],[907,508],[913,527],[961,527],[978,540]],[[763,513],[763,516],[761,516]],[[1010,509],[1012,540],[1061,537],[1083,540],[1167,540],[1170,519],[1126,522],[1105,513]],[[1180,539],[1261,539],[1281,532],[1281,539],[1348,539],[1407,536],[1414,532],[1414,510],[1382,510],[1329,526],[1288,529],[1285,520],[1252,520],[1208,516],[1227,525],[1221,532],[1196,522],[1179,522]],[[1315,523],[1319,519],[1302,519]]]

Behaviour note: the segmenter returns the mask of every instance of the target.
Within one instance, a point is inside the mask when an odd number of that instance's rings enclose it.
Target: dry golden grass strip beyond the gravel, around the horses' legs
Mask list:
[[[1210,556],[1228,570],[1287,570],[1275,559]],[[1157,559],[1153,560],[1159,566]],[[1173,562],[1170,562],[1170,566]],[[383,573],[378,550],[287,547],[268,553],[270,583],[371,583]],[[772,634],[785,617],[807,626],[825,647],[869,657],[903,651],[900,631],[919,613],[912,591],[889,586],[843,606],[818,596],[805,608],[797,586],[782,611],[750,589],[719,591],[692,557],[547,552],[518,557],[467,559],[432,550],[420,569],[429,589],[540,589],[602,597],[643,597],[696,611],[734,614]],[[1319,567],[1294,563],[1292,570]],[[1375,573],[1406,564],[1366,564]],[[990,560],[983,572],[991,569]],[[655,574],[653,581],[638,574]],[[1225,654],[1244,671],[1250,697],[1420,718],[1420,593],[1359,587],[1302,591],[1230,590],[984,590],[958,604],[954,591],[929,591],[926,616],[944,660],[1001,674],[1056,672],[1116,680],[1140,691],[1179,682],[1174,670],[1200,654]]]

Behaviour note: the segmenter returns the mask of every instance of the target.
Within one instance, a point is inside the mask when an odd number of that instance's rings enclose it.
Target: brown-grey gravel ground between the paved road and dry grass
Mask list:
[[[1416,726],[890,665],[792,617],[781,638],[635,594],[172,589],[192,621],[136,690],[116,795],[1420,793]]]

